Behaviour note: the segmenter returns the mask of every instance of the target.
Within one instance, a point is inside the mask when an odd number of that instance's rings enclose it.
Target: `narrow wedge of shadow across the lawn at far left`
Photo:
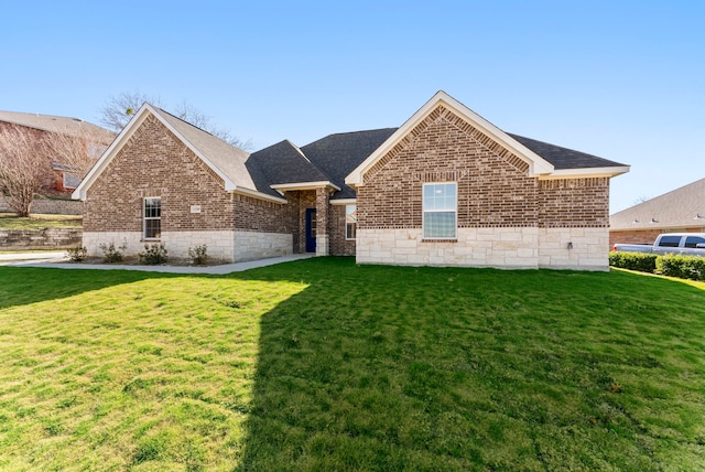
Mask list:
[[[53,276],[51,279],[47,278],[50,273]],[[59,300],[106,287],[175,276],[177,275],[138,270],[0,267],[0,309]],[[47,280],[52,283],[47,283]]]

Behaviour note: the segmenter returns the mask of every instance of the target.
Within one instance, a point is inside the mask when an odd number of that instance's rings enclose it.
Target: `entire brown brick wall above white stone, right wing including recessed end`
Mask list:
[[[427,182],[457,182],[458,227],[607,227],[609,179],[541,181],[438,106],[365,174],[358,227],[421,228]]]

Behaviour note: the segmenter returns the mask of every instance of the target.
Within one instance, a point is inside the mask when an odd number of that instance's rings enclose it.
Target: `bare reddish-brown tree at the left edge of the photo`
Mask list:
[[[0,128],[0,187],[18,216],[30,216],[34,194],[53,175],[44,142],[35,132],[17,126]]]

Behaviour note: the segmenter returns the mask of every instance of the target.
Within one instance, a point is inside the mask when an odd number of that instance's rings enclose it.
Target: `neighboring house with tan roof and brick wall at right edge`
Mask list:
[[[705,179],[609,217],[609,246],[653,244],[661,233],[705,233]]]

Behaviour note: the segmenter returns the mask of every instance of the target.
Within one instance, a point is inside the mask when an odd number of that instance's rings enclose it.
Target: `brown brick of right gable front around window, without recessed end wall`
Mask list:
[[[402,143],[365,174],[358,228],[420,228],[423,183],[447,181],[458,184],[459,227],[536,225],[528,164],[449,110],[438,107]]]

